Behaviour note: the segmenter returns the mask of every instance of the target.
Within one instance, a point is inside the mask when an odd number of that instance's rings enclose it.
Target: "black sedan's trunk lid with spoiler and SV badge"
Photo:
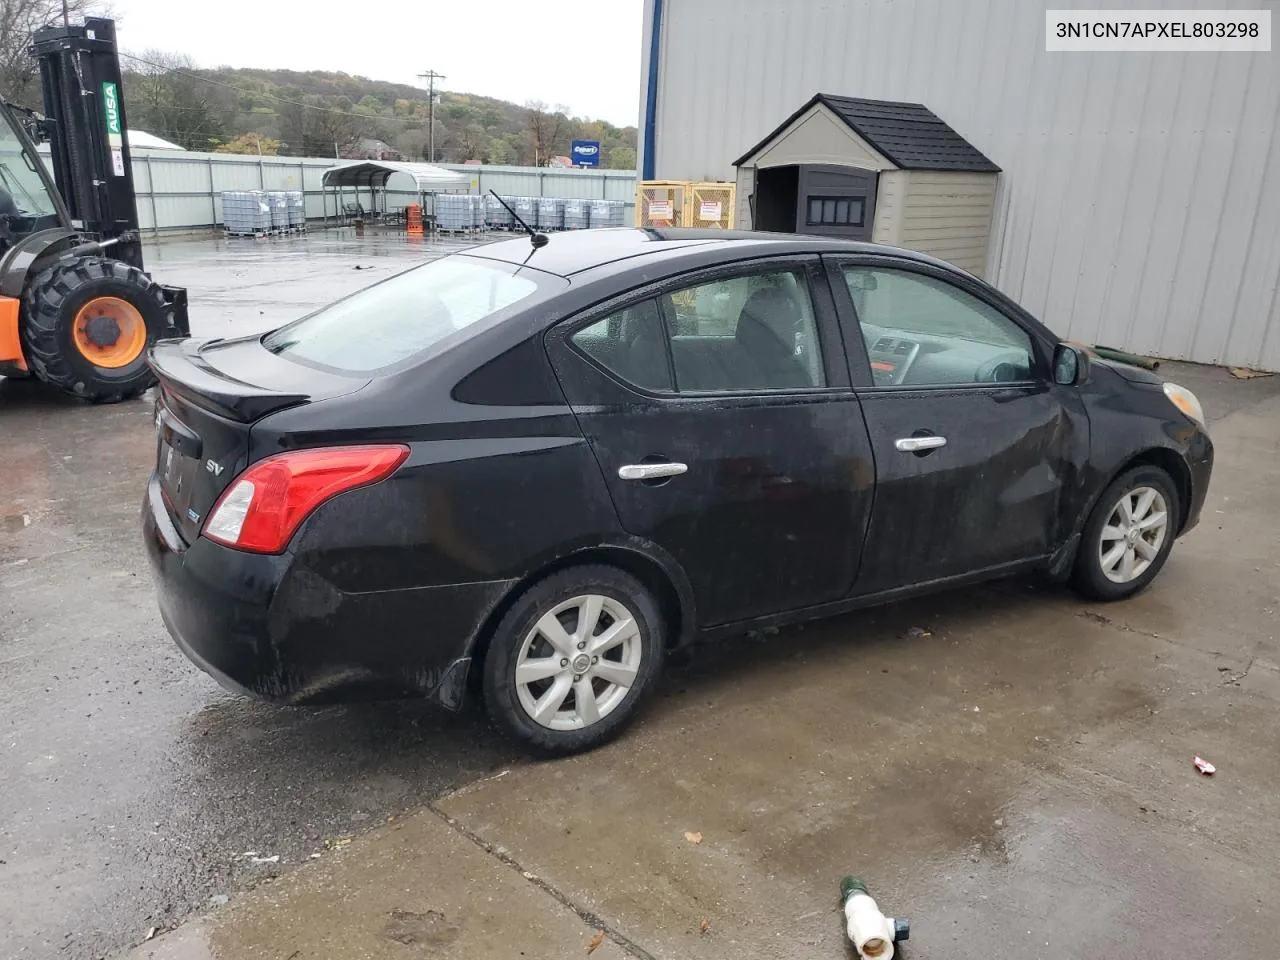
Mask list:
[[[253,424],[369,383],[283,360],[257,338],[161,340],[150,361],[160,380],[156,477],[165,508],[188,544],[223,490],[248,466]]]

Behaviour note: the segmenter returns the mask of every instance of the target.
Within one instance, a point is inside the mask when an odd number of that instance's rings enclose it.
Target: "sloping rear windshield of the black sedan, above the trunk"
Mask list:
[[[291,360],[371,374],[529,297],[554,278],[516,264],[451,256],[330,303],[262,338]]]

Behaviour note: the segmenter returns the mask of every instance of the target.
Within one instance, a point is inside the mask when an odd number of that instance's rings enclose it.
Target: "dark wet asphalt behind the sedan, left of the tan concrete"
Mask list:
[[[166,243],[196,335],[266,329],[451,247]],[[355,270],[355,265],[365,269]],[[138,535],[150,399],[86,407],[0,379],[0,957],[137,942],[508,749],[429,705],[280,710],[173,646]],[[253,864],[246,851],[280,856]]]

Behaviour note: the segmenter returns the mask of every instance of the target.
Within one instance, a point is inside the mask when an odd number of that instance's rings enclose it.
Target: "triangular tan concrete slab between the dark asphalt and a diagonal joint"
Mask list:
[[[586,956],[602,936],[535,882],[426,812],[237,897],[128,960]],[[593,960],[618,960],[608,937]]]

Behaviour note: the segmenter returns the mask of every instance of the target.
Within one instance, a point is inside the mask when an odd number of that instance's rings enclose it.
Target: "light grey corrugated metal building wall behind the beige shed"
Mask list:
[[[1004,168],[991,275],[1055,330],[1280,370],[1280,52],[1046,52],[1107,0],[662,5],[657,177],[731,179],[818,91],[923,102]]]

